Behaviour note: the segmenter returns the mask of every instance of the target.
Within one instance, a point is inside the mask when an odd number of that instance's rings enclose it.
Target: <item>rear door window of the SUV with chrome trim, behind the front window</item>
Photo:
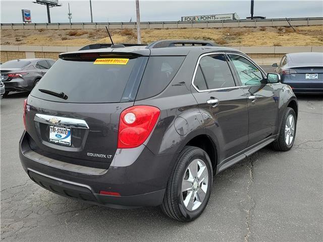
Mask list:
[[[205,84],[203,82],[205,80]],[[199,90],[235,87],[235,82],[224,54],[212,54],[200,59],[194,85]]]

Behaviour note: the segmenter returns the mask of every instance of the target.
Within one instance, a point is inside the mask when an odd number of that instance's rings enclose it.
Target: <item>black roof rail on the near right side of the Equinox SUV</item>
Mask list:
[[[146,48],[166,48],[177,46],[218,46],[216,43],[204,40],[158,40],[149,44]]]

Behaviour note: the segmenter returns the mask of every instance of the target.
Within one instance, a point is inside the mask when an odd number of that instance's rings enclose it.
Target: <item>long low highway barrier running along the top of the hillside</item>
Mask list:
[[[288,18],[293,26],[323,25],[323,18]],[[140,22],[142,29],[167,28],[222,28],[222,27],[270,27],[289,26],[286,19],[241,19],[217,21],[162,21]],[[131,29],[136,22],[96,22],[96,23],[1,23],[1,29]]]

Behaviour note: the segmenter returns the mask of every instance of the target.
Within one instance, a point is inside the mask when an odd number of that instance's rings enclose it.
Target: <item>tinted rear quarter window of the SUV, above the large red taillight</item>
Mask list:
[[[185,56],[150,56],[137,94],[137,100],[162,92],[175,77]]]

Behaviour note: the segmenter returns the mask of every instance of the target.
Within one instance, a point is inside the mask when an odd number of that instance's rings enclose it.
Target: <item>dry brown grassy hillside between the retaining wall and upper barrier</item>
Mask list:
[[[221,29],[143,29],[142,41],[159,39],[211,40],[226,46],[321,46],[323,26],[257,27]],[[110,43],[104,29],[100,30],[1,30],[2,45],[82,46]],[[135,29],[111,30],[114,42],[135,43]]]

